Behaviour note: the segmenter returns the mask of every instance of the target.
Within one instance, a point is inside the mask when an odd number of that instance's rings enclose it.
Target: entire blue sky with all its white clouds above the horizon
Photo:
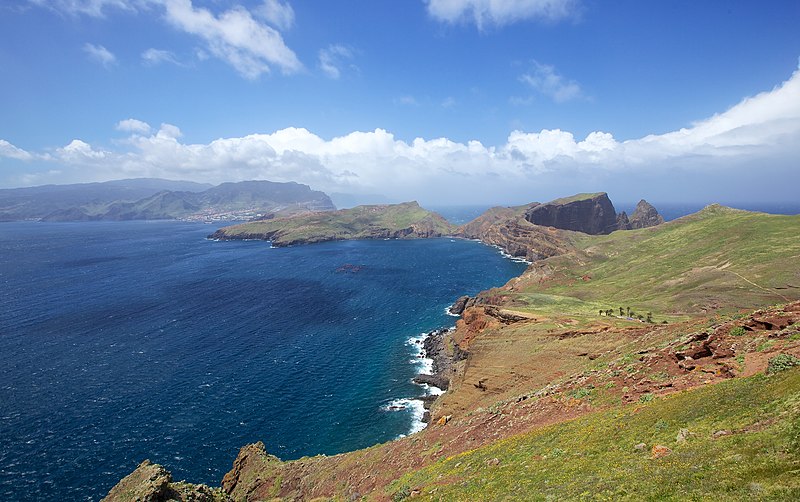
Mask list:
[[[796,200],[800,2],[11,0],[0,187]]]

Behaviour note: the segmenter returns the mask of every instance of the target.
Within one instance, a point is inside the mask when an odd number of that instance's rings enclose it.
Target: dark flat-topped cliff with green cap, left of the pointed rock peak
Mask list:
[[[617,212],[605,192],[539,204],[525,213],[525,219],[535,225],[593,235],[609,234],[617,229]]]

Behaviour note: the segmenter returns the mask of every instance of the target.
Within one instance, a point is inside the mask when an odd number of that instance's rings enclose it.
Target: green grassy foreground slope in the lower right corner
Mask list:
[[[686,441],[677,440],[681,429]],[[714,438],[717,431],[730,434]],[[656,444],[672,453],[653,459]],[[420,490],[423,500],[797,500],[798,446],[794,368],[499,441],[408,473],[386,492]]]

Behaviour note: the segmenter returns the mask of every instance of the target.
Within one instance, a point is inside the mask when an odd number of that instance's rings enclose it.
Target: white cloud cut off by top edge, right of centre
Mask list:
[[[529,19],[555,21],[577,14],[577,0],[427,0],[428,14],[448,23],[474,22],[478,29]]]

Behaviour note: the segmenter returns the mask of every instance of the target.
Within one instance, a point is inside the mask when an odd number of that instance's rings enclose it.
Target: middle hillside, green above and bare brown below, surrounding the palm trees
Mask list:
[[[577,252],[536,262],[484,294],[536,321],[457,332],[473,354],[452,383],[456,392],[440,399],[442,413],[463,414],[587,367],[636,359],[637,351],[701,330],[713,316],[800,298],[800,288],[774,289],[800,286],[799,216],[710,207],[653,228],[572,235]],[[652,312],[657,324],[618,317],[619,307]],[[601,309],[614,316],[598,315]],[[578,356],[588,353],[596,359]],[[480,380],[489,392],[474,388]]]

